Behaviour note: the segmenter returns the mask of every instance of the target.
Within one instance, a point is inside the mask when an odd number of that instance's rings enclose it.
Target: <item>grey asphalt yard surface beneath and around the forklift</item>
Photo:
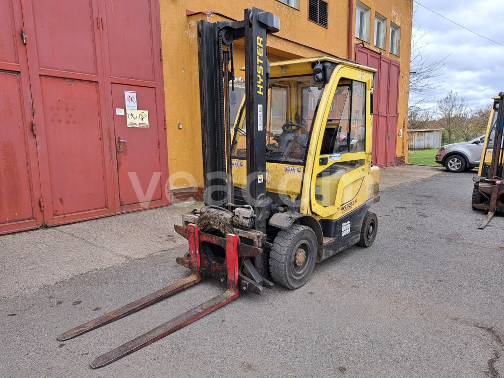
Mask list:
[[[371,247],[322,262],[298,290],[243,294],[97,370],[88,365],[95,357],[223,285],[202,282],[65,342],[56,336],[186,277],[175,264],[185,246],[117,256],[124,261],[27,286],[0,299],[0,376],[504,376],[504,217],[477,229],[484,215],[470,207],[473,175],[443,172],[389,187],[374,207],[379,231]],[[158,227],[156,237],[174,240],[172,228]]]

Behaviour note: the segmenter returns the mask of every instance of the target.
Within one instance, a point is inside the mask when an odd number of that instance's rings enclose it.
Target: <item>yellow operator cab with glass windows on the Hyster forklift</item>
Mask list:
[[[286,210],[337,219],[377,195],[372,182],[363,185],[364,180],[377,182],[377,172],[373,178],[366,177],[372,135],[372,114],[366,109],[372,107],[375,72],[330,57],[271,64],[266,187],[274,203]],[[246,198],[244,108],[242,101],[231,143],[237,204]],[[366,190],[369,186],[372,190]],[[349,201],[355,203],[342,212],[342,205]]]

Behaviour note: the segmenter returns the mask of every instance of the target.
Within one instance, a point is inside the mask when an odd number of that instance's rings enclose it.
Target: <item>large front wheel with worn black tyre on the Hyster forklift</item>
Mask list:
[[[281,230],[270,250],[271,278],[287,289],[300,288],[313,272],[317,251],[317,237],[311,228],[293,224]]]

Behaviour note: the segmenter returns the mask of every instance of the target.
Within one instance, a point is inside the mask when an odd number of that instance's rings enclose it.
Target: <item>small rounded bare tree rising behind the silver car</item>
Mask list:
[[[459,135],[467,123],[469,110],[465,97],[450,90],[445,97],[437,100],[435,112],[437,123],[448,134],[448,143],[452,143],[453,137]]]

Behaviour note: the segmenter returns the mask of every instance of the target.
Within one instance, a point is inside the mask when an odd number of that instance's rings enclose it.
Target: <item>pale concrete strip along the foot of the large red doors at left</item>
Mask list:
[[[187,241],[173,230],[198,203],[120,214],[0,236],[0,298],[20,295],[95,269],[120,265]]]

